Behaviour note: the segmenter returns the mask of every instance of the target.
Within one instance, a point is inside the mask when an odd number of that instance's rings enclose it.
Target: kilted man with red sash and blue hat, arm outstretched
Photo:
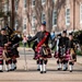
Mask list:
[[[37,34],[32,39],[28,40],[32,42],[38,38],[39,43],[37,44],[36,51],[37,51],[37,59],[39,59],[40,73],[46,73],[47,58],[51,57],[48,47],[49,37],[50,33],[46,31],[46,22],[44,22],[42,23],[40,32],[37,32]]]

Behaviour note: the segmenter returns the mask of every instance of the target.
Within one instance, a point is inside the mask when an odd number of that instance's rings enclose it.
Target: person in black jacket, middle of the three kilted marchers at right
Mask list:
[[[63,31],[62,36],[59,38],[59,60],[58,60],[58,63],[62,65],[63,71],[67,71],[68,69],[68,60],[66,60],[65,58],[66,52],[68,50],[67,48],[68,40],[69,38],[67,37],[67,31]]]

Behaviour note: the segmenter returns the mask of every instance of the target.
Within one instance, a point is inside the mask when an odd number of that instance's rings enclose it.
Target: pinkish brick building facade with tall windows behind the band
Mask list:
[[[82,0],[14,0],[12,10],[14,28],[26,34],[36,33],[43,21],[49,32],[82,30]]]

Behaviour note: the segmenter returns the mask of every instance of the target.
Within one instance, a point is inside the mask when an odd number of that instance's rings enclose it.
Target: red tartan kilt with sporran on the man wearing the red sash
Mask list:
[[[50,52],[49,47],[45,47],[44,50],[46,50],[46,52],[44,52],[43,48],[44,48],[43,46],[38,47],[38,50],[37,50],[37,54],[36,54],[36,59],[39,59],[39,58],[51,58],[51,52]]]

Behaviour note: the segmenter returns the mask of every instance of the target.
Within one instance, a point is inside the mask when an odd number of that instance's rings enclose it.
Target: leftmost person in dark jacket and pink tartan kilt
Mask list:
[[[8,55],[7,48],[5,48],[8,45],[9,45],[9,37],[7,36],[7,31],[5,31],[5,28],[1,28],[1,34],[0,34],[0,72],[3,72],[3,59],[10,58]],[[4,50],[7,51],[7,54],[4,52]],[[5,60],[5,63],[7,63],[7,60]]]

